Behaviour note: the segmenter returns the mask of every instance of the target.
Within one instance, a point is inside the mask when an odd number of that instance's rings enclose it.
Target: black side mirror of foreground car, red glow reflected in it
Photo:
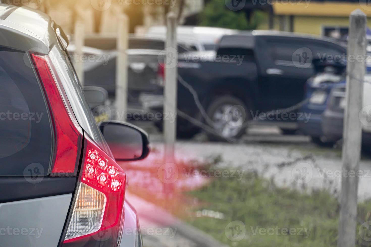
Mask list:
[[[135,125],[109,121],[99,128],[116,161],[142,160],[150,153],[148,134]]]

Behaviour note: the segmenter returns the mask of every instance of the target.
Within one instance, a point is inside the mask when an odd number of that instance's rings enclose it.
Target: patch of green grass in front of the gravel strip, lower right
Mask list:
[[[184,216],[184,220],[229,246],[336,246],[339,204],[326,190],[314,190],[308,194],[291,188],[278,188],[256,173],[245,173],[241,181],[214,178],[207,186],[187,194],[198,198],[198,203]],[[204,209],[223,213],[224,218],[196,217],[196,212]],[[358,211],[359,219],[370,220],[371,202],[360,204]],[[246,236],[240,241],[231,241],[225,228],[236,220],[246,226]],[[306,228],[310,233],[302,231],[300,236],[279,235],[275,234],[276,231],[273,235],[253,234],[256,229],[276,227]],[[371,246],[371,242],[360,238],[358,228],[355,234],[357,246]]]

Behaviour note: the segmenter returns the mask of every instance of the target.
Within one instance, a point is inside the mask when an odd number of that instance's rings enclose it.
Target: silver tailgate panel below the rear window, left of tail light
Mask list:
[[[1,203],[0,245],[57,246],[71,199],[65,194]]]

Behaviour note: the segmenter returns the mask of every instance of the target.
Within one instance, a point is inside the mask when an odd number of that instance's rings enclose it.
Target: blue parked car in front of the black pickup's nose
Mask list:
[[[345,63],[313,61],[313,64],[317,73],[306,82],[305,99],[308,102],[299,109],[308,117],[298,119],[299,130],[320,146],[332,146],[334,142],[327,140],[322,133],[322,113],[328,104],[331,89],[344,83]]]

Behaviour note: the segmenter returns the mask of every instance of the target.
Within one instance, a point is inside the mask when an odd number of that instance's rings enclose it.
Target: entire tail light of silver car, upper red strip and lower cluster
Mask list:
[[[30,56],[42,82],[55,131],[51,174],[75,175],[80,161],[82,129],[66,100],[57,73],[53,73],[50,58]],[[97,243],[100,247],[116,246],[124,214],[126,175],[86,134],[83,147],[78,191],[62,246],[97,246]]]

